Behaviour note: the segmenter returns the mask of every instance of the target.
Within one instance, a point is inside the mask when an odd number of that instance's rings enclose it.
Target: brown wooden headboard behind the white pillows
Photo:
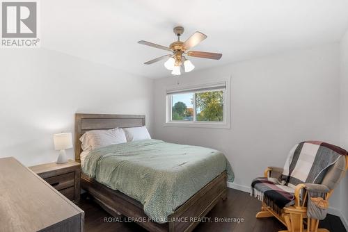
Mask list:
[[[75,114],[75,160],[80,160],[80,138],[86,131],[137,126],[145,126],[145,115]]]

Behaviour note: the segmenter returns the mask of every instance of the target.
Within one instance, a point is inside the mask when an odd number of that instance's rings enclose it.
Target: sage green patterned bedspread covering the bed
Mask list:
[[[145,214],[168,222],[175,208],[224,170],[233,172],[220,152],[161,140],[138,140],[95,149],[82,172],[141,202]]]

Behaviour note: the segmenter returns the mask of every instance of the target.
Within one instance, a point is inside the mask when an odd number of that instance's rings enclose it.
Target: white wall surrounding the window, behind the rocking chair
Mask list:
[[[338,44],[246,60],[155,80],[155,137],[219,149],[248,188],[270,165],[283,167],[288,151],[303,140],[339,142]],[[192,59],[194,64],[194,60]],[[213,61],[212,61],[213,62]],[[166,127],[169,85],[232,76],[232,128]],[[241,186],[239,186],[241,187]],[[244,188],[245,189],[245,188]],[[331,206],[337,208],[338,193]]]

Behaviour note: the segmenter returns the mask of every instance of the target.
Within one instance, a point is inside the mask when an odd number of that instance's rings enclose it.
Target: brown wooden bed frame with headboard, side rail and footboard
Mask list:
[[[79,138],[86,131],[96,129],[112,129],[124,127],[145,126],[145,115],[97,115],[75,114],[75,160],[80,161],[81,142]],[[227,198],[227,174],[221,173],[201,190],[196,192],[182,206],[168,217],[169,222],[159,224],[148,219],[143,205],[122,192],[98,183],[94,179],[81,174],[81,188],[93,196],[97,204],[113,217],[147,218],[143,222],[136,222],[148,231],[192,231],[220,199]]]

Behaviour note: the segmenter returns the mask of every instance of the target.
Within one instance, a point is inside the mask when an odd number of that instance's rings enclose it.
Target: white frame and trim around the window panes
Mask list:
[[[216,80],[216,82],[213,83],[201,83],[200,85],[190,85],[190,84],[182,84],[180,87],[177,87],[177,85],[168,88],[166,90],[166,123],[164,126],[182,126],[182,127],[203,127],[203,128],[219,128],[219,129],[230,129],[230,99],[231,99],[231,93],[230,93],[230,80],[231,78],[221,78],[219,80]],[[214,90],[202,90],[199,91],[199,89],[203,89],[206,86],[212,86],[217,85],[221,82],[226,83],[225,89],[214,89]],[[220,91],[223,90],[223,122],[197,122],[196,121],[196,96],[193,97],[193,121],[185,121],[185,120],[172,120],[172,97],[173,94],[180,94],[180,91],[182,90],[193,90],[193,93],[196,92],[209,92],[209,91]],[[195,91],[198,90],[198,91]],[[173,94],[167,94],[167,92],[175,92]],[[189,91],[188,91],[189,92]]]

